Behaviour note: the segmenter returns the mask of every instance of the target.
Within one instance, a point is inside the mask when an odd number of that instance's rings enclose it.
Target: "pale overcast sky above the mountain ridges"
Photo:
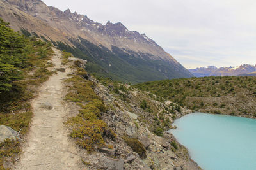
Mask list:
[[[256,64],[255,0],[43,0],[145,33],[186,68]]]

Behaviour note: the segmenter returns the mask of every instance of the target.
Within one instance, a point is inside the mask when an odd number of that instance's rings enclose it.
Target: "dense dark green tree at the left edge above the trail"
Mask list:
[[[19,68],[26,67],[26,44],[26,38],[0,18],[0,93],[10,90],[20,78]]]

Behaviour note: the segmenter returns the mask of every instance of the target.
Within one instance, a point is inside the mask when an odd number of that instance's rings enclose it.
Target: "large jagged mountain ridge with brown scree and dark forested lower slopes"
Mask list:
[[[103,25],[40,0],[0,0],[0,6],[0,17],[15,31],[51,41],[88,60],[90,73],[131,83],[193,76],[155,41],[129,31],[121,22]]]

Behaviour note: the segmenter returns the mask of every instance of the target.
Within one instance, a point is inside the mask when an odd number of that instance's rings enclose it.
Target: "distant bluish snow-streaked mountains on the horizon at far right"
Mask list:
[[[243,64],[237,67],[220,67],[215,66],[200,67],[189,69],[196,77],[204,76],[244,76],[245,74],[256,71],[256,65]]]

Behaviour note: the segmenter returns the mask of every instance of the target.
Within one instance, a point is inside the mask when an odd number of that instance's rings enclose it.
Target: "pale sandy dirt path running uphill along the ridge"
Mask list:
[[[61,53],[53,49],[52,57],[55,67],[61,67]],[[52,75],[39,89],[39,95],[33,100],[34,117],[28,134],[28,142],[23,148],[20,162],[14,169],[81,169],[79,155],[75,144],[68,138],[63,124],[67,111],[63,106],[66,89],[62,81],[67,78],[70,69],[65,73]],[[51,110],[40,108],[42,103],[49,102]]]

